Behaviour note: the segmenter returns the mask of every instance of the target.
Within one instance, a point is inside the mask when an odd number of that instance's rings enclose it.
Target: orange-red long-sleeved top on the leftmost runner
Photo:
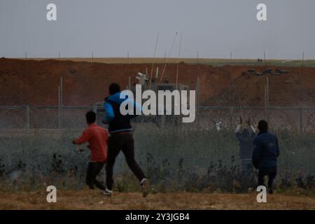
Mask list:
[[[90,124],[83,134],[76,140],[76,144],[88,142],[90,144],[90,162],[106,162],[107,139],[109,132],[95,123]]]

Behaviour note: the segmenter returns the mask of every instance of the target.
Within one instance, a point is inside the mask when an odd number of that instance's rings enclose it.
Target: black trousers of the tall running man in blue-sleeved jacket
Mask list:
[[[113,165],[119,152],[123,151],[128,167],[132,170],[137,179],[141,181],[146,178],[144,172],[134,160],[134,138],[132,133],[111,134],[109,137],[109,146],[106,162],[106,187],[109,190],[113,188]]]

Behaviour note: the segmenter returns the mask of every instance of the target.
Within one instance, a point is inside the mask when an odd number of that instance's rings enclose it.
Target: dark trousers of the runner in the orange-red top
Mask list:
[[[104,162],[89,162],[87,165],[86,184],[90,189],[94,189],[94,186],[100,190],[105,190],[103,183],[97,181],[96,177],[104,167]]]

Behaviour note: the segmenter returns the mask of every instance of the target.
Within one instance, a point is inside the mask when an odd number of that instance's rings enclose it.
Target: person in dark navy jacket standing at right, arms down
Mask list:
[[[268,132],[268,123],[260,120],[258,123],[258,136],[254,140],[253,166],[258,169],[258,185],[265,186],[265,176],[268,176],[269,194],[273,193],[274,179],[277,172],[277,158],[279,157],[279,144],[276,135]]]

